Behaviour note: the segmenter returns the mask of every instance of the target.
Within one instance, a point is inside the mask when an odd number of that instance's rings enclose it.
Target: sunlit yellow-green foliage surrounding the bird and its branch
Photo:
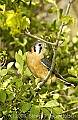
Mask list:
[[[53,4],[47,14],[57,13],[51,23],[41,20],[43,3],[35,0],[0,0],[0,120],[77,120],[78,110],[78,32],[70,39],[70,26],[75,18],[63,16],[55,0],[44,0],[45,5]],[[60,23],[64,26],[56,57],[56,70],[75,84],[68,87],[52,78],[36,95],[34,88],[40,81],[27,68],[27,51],[34,41],[24,34],[32,34],[55,42]],[[46,57],[51,61],[53,50],[48,45]],[[31,94],[34,98],[30,101]],[[67,110],[69,110],[67,112]]]

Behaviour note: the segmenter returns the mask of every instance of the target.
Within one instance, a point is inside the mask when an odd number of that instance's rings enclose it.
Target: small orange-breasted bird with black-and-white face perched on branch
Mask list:
[[[45,58],[44,54],[46,52],[46,43],[37,41],[33,43],[30,51],[27,53],[27,66],[31,73],[34,75],[35,78],[41,78],[42,80],[45,79],[47,76],[50,68],[51,63],[47,58]],[[61,79],[66,84],[70,84],[64,77],[62,77],[59,73],[55,70],[52,72],[51,77],[56,77]],[[48,83],[51,83],[51,77],[48,79]]]

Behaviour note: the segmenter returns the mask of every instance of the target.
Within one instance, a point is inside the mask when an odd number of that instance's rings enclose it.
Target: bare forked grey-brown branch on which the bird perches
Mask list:
[[[68,3],[68,6],[67,6],[67,9],[66,9],[66,12],[65,12],[65,16],[68,15],[69,13],[69,9],[70,9],[70,6],[71,6],[71,3],[74,2],[75,0],[69,0],[69,3]],[[61,26],[60,26],[60,30],[58,32],[58,35],[57,35],[57,39],[56,39],[56,42],[55,43],[51,43],[50,44],[52,45],[53,47],[53,51],[54,51],[54,55],[53,55],[53,59],[52,59],[52,64],[51,64],[51,69],[50,71],[48,72],[47,76],[45,77],[45,79],[38,83],[37,87],[35,88],[35,92],[38,92],[42,86],[47,82],[48,78],[50,77],[50,75],[52,74],[52,71],[54,70],[54,67],[55,67],[55,60],[56,60],[56,52],[57,52],[57,48],[58,48],[58,43],[59,43],[59,39],[60,39],[60,36],[61,36],[61,32],[62,32],[62,29],[63,29],[63,26],[64,26],[64,23],[61,23]],[[33,36],[31,35],[30,33],[27,33],[25,32],[26,35],[30,36],[30,37],[33,37],[33,38],[36,38],[36,36]],[[43,42],[46,42],[45,40],[43,40],[42,38],[39,38],[38,40],[41,40]],[[47,42],[46,42],[47,43]],[[49,44],[49,43],[48,43]],[[53,46],[55,45],[55,46]],[[30,101],[33,99],[34,95],[32,94],[30,96]]]

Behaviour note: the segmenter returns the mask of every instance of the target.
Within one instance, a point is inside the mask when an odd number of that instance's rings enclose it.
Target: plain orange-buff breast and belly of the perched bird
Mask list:
[[[27,66],[35,77],[44,79],[48,73],[47,68],[40,62],[44,56],[42,54],[28,53]]]

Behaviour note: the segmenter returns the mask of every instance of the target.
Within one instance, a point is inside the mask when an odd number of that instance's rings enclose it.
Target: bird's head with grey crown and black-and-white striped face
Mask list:
[[[31,47],[31,52],[35,52],[37,54],[41,54],[41,53],[44,54],[46,48],[47,48],[46,43],[37,41]]]

